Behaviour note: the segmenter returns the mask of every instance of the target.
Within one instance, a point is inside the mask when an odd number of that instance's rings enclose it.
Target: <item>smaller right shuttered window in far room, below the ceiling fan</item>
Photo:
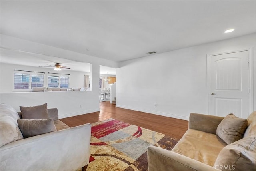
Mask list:
[[[48,76],[48,87],[68,88],[69,76]]]

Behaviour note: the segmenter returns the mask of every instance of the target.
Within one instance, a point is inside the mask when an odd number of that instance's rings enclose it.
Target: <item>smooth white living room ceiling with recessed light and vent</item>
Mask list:
[[[1,34],[120,62],[253,33],[255,2],[1,0]]]

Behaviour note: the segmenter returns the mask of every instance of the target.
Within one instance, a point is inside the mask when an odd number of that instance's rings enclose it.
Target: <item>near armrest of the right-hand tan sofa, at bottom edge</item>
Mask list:
[[[162,149],[148,147],[148,171],[220,171],[189,157]]]

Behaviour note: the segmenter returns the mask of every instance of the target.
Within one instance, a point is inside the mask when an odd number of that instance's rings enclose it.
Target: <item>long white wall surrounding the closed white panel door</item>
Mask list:
[[[191,112],[208,114],[207,55],[253,48],[256,110],[255,36],[121,62],[117,69],[116,107],[186,120]]]

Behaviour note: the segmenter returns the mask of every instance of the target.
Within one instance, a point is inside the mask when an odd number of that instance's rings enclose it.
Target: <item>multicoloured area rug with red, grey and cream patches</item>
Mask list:
[[[87,171],[147,171],[150,145],[171,150],[179,139],[107,119],[92,124]]]

